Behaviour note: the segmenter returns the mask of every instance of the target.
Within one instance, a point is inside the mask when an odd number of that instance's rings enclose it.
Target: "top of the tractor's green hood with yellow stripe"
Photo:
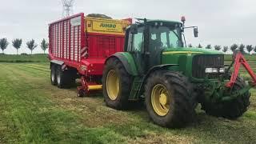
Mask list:
[[[217,50],[206,50],[202,48],[169,48],[163,50],[162,54],[223,54]]]

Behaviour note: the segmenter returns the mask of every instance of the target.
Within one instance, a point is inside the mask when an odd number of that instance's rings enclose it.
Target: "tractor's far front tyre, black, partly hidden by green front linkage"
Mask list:
[[[237,78],[237,82],[234,83],[232,91],[242,90],[246,86],[246,82],[242,78]],[[227,102],[202,102],[202,110],[206,111],[206,114],[236,119],[242,116],[250,106],[250,92],[247,91],[245,94],[238,96],[231,101]]]

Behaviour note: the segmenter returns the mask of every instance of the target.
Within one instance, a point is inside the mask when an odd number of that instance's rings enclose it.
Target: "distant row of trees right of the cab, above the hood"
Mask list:
[[[189,44],[188,47],[194,47],[192,46],[192,44]],[[197,48],[203,48],[203,46],[201,44],[199,44],[198,46],[196,46]],[[214,50],[222,50],[224,53],[226,53],[228,50],[231,50],[233,53],[235,51],[241,51],[242,54],[246,54],[246,50],[247,50],[247,54],[251,54],[251,52],[255,52],[256,53],[256,46],[252,46],[252,45],[244,45],[244,44],[233,44],[231,46],[219,46],[219,45],[215,45],[215,46],[211,46],[211,45],[207,45],[205,47],[206,49],[214,49]]]

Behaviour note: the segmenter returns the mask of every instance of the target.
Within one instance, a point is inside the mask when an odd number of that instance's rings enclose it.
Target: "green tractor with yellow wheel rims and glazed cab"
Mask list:
[[[198,28],[194,27],[194,36]],[[186,48],[184,22],[146,20],[126,29],[124,52],[107,58],[102,76],[106,105],[125,110],[144,101],[159,126],[182,127],[193,121],[198,103],[206,114],[235,119],[250,105],[242,78],[234,86],[224,54]]]

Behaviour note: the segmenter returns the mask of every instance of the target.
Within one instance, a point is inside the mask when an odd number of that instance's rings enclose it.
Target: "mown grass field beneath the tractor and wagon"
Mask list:
[[[75,88],[51,86],[48,65],[0,63],[0,143],[256,143],[256,90],[238,120],[198,107],[196,122],[171,130],[150,122],[144,106],[113,110],[101,94],[77,98]]]

